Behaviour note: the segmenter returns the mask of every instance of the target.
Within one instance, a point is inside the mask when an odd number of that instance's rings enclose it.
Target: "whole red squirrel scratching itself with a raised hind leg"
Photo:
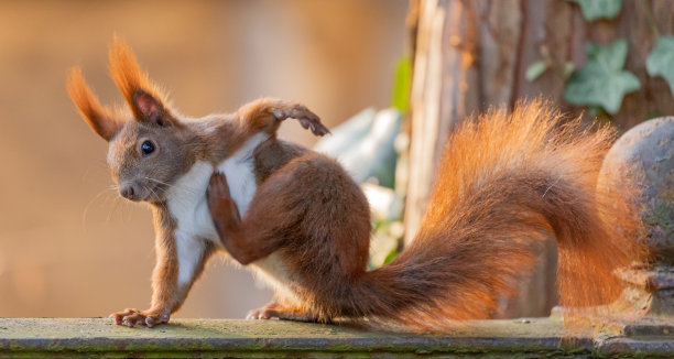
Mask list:
[[[216,252],[275,290],[249,318],[368,318],[420,330],[492,315],[546,233],[558,243],[561,303],[569,307],[616,298],[622,284],[612,272],[642,255],[633,239],[637,189],[597,187],[613,131],[587,131],[544,101],[458,126],[415,239],[367,271],[370,210],[359,185],[335,160],[276,138],[289,118],[329,133],[316,115],[264,98],[230,115],[187,118],[126,43],[113,42],[109,61],[130,113],[102,107],[77,68],[68,90],[109,142],[121,196],[154,215],[152,305],[113,313],[118,325],[168,322]]]

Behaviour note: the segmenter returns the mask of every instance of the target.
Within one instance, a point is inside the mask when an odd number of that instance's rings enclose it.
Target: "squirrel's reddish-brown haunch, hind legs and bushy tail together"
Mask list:
[[[606,304],[622,290],[613,271],[644,254],[635,241],[638,189],[597,189],[613,135],[566,121],[542,101],[465,122],[448,139],[415,240],[371,272],[367,202],[325,156],[306,152],[281,166],[244,218],[227,200],[224,176],[211,178],[209,205],[235,259],[279,252],[293,273],[295,298],[280,295],[253,317],[368,317],[418,330],[487,318],[515,291],[545,232],[558,242],[562,305]]]

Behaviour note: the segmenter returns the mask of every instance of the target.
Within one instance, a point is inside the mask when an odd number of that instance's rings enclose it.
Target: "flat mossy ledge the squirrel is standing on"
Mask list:
[[[450,335],[279,320],[178,319],[152,329],[108,318],[0,318],[0,358],[602,357],[674,352],[674,337],[562,339],[555,319],[476,322]]]

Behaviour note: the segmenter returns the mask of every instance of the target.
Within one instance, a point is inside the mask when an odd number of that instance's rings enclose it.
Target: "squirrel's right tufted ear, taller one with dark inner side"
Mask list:
[[[112,79],[131,107],[135,120],[159,126],[180,126],[124,41],[115,36],[108,55]]]

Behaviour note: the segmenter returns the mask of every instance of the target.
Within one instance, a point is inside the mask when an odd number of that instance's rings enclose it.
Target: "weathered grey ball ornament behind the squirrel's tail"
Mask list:
[[[673,263],[674,117],[649,120],[626,132],[608,152],[600,177],[622,164],[643,185],[642,218],[651,253],[655,261]],[[623,180],[631,181],[628,176]]]

